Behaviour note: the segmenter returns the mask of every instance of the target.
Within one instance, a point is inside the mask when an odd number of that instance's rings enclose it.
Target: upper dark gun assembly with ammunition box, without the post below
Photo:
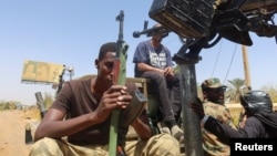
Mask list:
[[[215,0],[154,0],[148,15],[164,25],[167,32],[179,35],[184,48],[174,55],[174,61],[194,58],[202,49],[214,46],[220,39],[252,45],[249,32],[258,37],[275,38],[277,27],[274,14],[277,13],[277,0],[227,1],[214,10]],[[151,29],[134,32],[151,35]]]

